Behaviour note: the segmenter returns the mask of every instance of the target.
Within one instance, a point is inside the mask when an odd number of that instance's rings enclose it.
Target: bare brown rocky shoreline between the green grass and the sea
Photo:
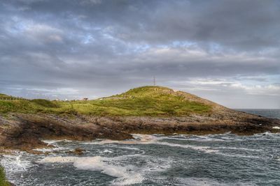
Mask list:
[[[25,150],[52,147],[43,139],[132,139],[139,134],[255,134],[279,132],[279,119],[265,118],[231,109],[220,109],[207,115],[184,117],[148,116],[86,116],[55,114],[18,114],[0,116],[0,146],[6,150]]]

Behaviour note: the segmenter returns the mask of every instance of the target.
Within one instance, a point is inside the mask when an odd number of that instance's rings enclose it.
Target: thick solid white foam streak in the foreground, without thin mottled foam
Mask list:
[[[40,163],[73,163],[77,169],[101,171],[109,176],[117,177],[113,185],[131,185],[141,183],[144,179],[140,173],[134,170],[133,166],[121,166],[113,164],[115,157],[45,157]]]

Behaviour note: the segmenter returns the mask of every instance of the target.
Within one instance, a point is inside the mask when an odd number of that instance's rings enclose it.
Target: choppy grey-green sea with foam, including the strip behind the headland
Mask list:
[[[241,110],[280,118],[280,110]],[[280,131],[279,131],[280,132]],[[280,133],[133,134],[111,141],[45,141],[49,155],[17,152],[1,164],[15,185],[280,185]],[[69,150],[83,148],[83,155]]]

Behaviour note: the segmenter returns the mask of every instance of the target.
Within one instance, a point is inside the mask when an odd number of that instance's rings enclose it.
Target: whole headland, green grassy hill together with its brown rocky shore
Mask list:
[[[133,133],[254,134],[279,132],[279,126],[278,119],[234,111],[162,86],[87,101],[0,100],[0,146],[31,153],[48,146],[41,139],[123,140]]]

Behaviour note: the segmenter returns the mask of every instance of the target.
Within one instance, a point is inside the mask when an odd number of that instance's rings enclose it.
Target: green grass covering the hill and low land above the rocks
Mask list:
[[[0,112],[110,116],[186,116],[211,111],[201,98],[161,86],[133,88],[120,95],[88,101],[0,100]]]

